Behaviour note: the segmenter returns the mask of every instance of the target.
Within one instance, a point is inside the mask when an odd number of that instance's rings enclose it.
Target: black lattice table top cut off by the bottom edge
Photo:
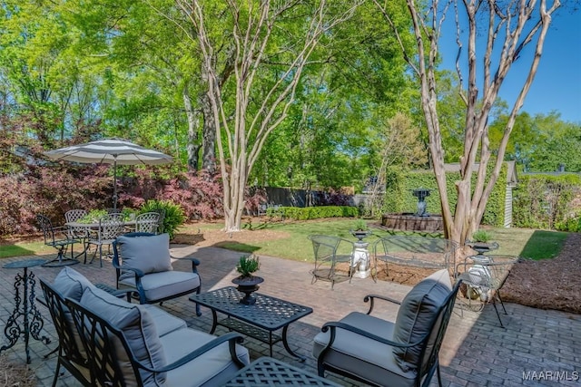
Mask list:
[[[265,387],[265,386],[331,386],[330,382],[314,373],[306,372],[291,364],[282,363],[271,357],[261,357],[242,368],[225,384],[226,387]]]

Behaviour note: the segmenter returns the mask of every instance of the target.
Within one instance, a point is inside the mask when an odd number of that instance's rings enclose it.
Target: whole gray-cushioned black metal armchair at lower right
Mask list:
[[[340,373],[378,386],[427,386],[440,382],[438,352],[459,282],[452,287],[448,270],[439,270],[415,285],[404,300],[368,295],[367,314],[353,312],[324,324],[313,343],[318,371]],[[395,322],[370,315],[376,300],[399,304]]]

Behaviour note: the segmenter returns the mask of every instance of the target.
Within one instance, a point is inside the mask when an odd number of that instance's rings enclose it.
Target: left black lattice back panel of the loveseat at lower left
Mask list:
[[[58,380],[61,366],[68,372],[71,372],[74,378],[84,386],[91,386],[91,381],[86,379],[83,373],[74,366],[74,363],[85,366],[87,371],[90,372],[86,359],[79,352],[77,343],[74,340],[73,329],[76,328],[67,323],[66,313],[69,312],[69,309],[65,305],[63,295],[57,292],[52,285],[44,282],[42,278],[40,279],[40,285],[44,293],[44,305],[46,305],[53,318],[54,329],[58,336],[58,347],[56,348],[58,350],[58,357],[56,360],[56,370],[54,370],[53,387]]]

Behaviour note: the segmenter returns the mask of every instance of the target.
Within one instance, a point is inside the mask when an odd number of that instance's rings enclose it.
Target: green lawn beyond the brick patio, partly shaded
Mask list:
[[[220,247],[229,248],[244,253],[255,253],[264,256],[280,256],[300,261],[312,260],[312,245],[308,236],[313,234],[334,235],[350,240],[350,229],[354,227],[353,219],[324,219],[319,221],[265,221],[252,224],[245,223],[244,229],[249,231],[268,229],[281,232],[281,237],[274,240],[263,240],[252,245],[229,241],[227,237],[219,244]],[[369,227],[373,235],[365,241],[373,242],[379,237],[389,235],[388,231],[373,227],[374,222],[369,221]],[[194,223],[182,227],[197,233],[209,230],[218,230],[222,223]],[[494,254],[525,256],[532,259],[552,258],[556,256],[567,236],[565,232],[544,231],[525,228],[487,228],[492,234],[493,240],[500,245]],[[409,233],[406,233],[409,234]],[[422,234],[426,237],[441,237],[438,234]],[[8,256],[30,256],[53,254],[52,247],[45,247],[42,242],[16,242],[0,246],[0,258]]]

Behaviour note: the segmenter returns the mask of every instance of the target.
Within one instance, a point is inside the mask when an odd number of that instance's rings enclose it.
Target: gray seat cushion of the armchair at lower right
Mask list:
[[[370,334],[393,341],[394,324],[369,314],[352,312],[340,320],[341,323],[357,326]],[[320,352],[329,343],[330,332],[320,332],[315,336],[313,355],[319,358]],[[325,354],[325,363],[333,367],[357,374],[369,383],[389,386],[411,386],[416,372],[404,372],[395,362],[390,345],[379,343],[344,329],[337,329],[335,342]]]

